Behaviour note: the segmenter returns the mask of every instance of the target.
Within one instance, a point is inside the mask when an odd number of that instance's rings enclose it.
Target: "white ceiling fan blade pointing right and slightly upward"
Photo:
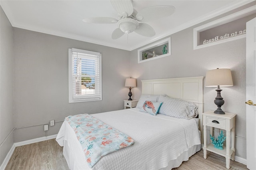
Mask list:
[[[174,6],[150,6],[138,12],[138,14],[136,15],[136,20],[140,22],[148,22],[150,20],[156,20],[162,17],[170,16],[174,12]]]

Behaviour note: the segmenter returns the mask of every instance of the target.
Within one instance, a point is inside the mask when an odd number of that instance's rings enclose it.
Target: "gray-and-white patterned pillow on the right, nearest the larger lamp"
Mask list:
[[[158,101],[163,103],[159,109],[159,113],[163,115],[182,119],[192,119],[192,117],[196,117],[198,114],[198,106],[192,102],[163,95],[159,97]]]

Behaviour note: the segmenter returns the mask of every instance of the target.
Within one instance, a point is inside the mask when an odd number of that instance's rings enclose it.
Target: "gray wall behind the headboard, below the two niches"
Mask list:
[[[234,86],[222,88],[222,110],[237,114],[236,156],[246,159],[246,39],[193,50],[193,28],[170,35],[170,56],[138,63],[137,49],[131,51],[132,77],[138,86],[134,98],[141,95],[141,80],[205,76],[210,69],[230,68]],[[204,111],[217,109],[215,89],[204,87]]]

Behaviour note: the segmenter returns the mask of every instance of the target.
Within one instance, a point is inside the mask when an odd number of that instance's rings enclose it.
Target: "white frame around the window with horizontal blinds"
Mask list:
[[[76,96],[74,93],[76,93],[73,83],[73,55],[72,52],[78,52],[78,53],[85,53],[88,55],[97,55],[99,60],[99,69],[97,72],[99,72],[99,93],[97,96],[99,96],[99,99],[96,99],[96,95],[81,95]],[[76,48],[69,48],[68,49],[68,103],[78,103],[78,102],[87,102],[87,101],[101,101],[102,100],[102,55],[99,52],[94,51],[87,51],[84,49],[76,49]],[[96,82],[95,82],[96,83]],[[96,85],[95,85],[96,86]]]

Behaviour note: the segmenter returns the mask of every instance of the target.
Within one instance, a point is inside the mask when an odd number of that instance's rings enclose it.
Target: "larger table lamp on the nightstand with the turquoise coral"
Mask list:
[[[233,86],[232,75],[230,69],[214,69],[206,72],[205,76],[205,87],[217,87],[217,97],[214,103],[217,105],[218,109],[214,111],[216,114],[224,115],[225,112],[222,111],[221,106],[224,104],[224,100],[220,95],[222,89],[220,87]]]

